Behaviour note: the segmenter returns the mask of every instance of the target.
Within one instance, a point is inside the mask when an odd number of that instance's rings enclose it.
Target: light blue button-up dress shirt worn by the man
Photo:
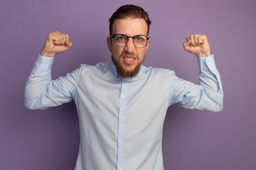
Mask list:
[[[174,71],[141,66],[122,78],[112,61],[81,64],[51,80],[54,57],[38,56],[25,86],[25,106],[44,109],[74,99],[80,146],[75,170],[164,170],[162,129],[168,106],[218,112],[223,93],[213,55],[198,58],[199,85]]]

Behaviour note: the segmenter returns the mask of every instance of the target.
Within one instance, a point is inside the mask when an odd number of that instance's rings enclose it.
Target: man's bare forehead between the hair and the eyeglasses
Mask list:
[[[148,25],[143,18],[123,18],[114,21],[112,26],[112,33],[122,33],[128,36],[133,35],[146,35]]]

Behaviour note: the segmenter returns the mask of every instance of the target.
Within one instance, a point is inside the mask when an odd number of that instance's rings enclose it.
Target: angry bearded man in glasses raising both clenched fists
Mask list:
[[[25,106],[42,109],[74,99],[80,147],[75,170],[163,170],[162,128],[168,106],[222,110],[220,75],[206,35],[190,35],[184,49],[198,57],[195,85],[168,69],[142,65],[150,44],[148,13],[125,5],[113,13],[110,62],[81,64],[51,81],[54,56],[70,49],[67,34],[50,33],[25,87]]]

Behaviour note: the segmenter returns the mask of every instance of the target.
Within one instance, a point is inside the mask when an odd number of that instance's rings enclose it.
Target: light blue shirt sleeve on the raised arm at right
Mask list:
[[[184,108],[218,112],[223,108],[223,90],[214,56],[198,57],[198,66],[198,85],[170,72],[170,105],[178,103]]]

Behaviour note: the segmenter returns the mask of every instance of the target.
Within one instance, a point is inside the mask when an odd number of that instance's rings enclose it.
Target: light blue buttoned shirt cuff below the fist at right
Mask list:
[[[209,57],[198,57],[199,70],[213,70],[216,69],[213,54]]]

